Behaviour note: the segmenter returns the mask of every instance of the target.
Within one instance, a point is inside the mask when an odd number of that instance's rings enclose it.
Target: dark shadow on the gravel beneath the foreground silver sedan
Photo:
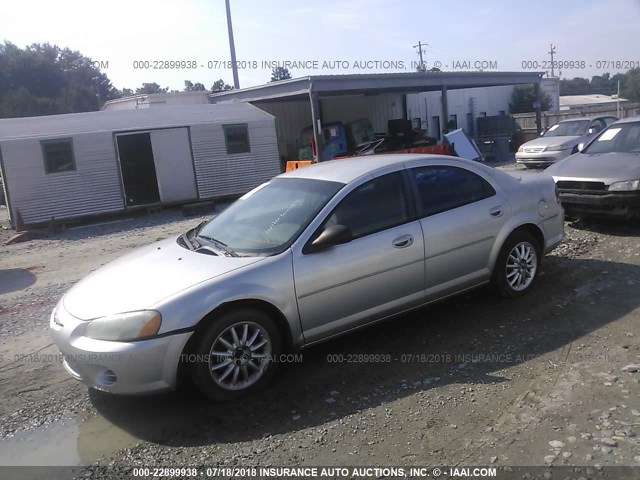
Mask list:
[[[266,390],[239,402],[214,404],[193,388],[142,398],[92,392],[91,400],[133,436],[170,446],[320,426],[437,386],[508,382],[499,370],[560,349],[640,306],[628,278],[640,278],[640,267],[548,257],[529,295],[501,300],[479,289],[310,348],[303,362],[282,365]],[[390,361],[360,361],[365,354]],[[465,354],[508,360],[460,365]],[[294,411],[302,418],[294,420]]]

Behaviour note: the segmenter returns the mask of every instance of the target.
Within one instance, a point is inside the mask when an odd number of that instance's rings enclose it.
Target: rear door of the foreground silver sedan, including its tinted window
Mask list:
[[[409,169],[425,239],[427,300],[490,278],[489,259],[511,207],[489,176],[453,165]]]

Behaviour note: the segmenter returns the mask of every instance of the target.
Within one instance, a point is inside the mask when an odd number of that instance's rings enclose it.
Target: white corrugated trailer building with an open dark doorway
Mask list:
[[[0,120],[12,223],[243,194],[280,173],[275,120],[246,103]]]

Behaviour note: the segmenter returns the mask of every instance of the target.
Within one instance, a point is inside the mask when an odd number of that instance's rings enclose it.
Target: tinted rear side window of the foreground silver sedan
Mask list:
[[[421,217],[435,215],[492,197],[493,187],[469,170],[449,166],[420,167],[410,170],[418,187]]]

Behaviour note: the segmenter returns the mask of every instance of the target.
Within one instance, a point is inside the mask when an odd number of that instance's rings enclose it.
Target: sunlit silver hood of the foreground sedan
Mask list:
[[[82,320],[144,310],[264,258],[197,253],[178,245],[176,238],[138,248],[100,267],[65,294],[64,308]]]

